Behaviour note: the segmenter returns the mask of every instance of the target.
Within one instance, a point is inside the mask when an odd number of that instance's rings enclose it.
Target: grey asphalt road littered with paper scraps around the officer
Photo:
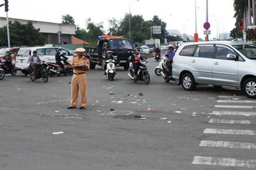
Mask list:
[[[132,83],[123,67],[114,81],[100,66],[90,70],[83,110],[66,109],[71,76],[43,83],[6,75],[0,169],[255,169],[256,100],[230,87],[185,91],[155,75],[159,62],[148,61],[149,85]]]

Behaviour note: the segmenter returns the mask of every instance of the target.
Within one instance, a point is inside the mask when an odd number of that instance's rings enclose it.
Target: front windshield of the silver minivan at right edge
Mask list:
[[[256,60],[256,46],[255,45],[234,45],[238,51],[248,59]]]

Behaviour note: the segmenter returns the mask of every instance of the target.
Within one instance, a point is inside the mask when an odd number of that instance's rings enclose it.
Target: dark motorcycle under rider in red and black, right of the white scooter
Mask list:
[[[146,61],[142,60],[139,62],[141,62],[141,66],[139,66],[137,78],[135,78],[135,68],[133,67],[132,62],[130,62],[130,73],[128,73],[128,76],[132,79],[133,83],[136,83],[137,80],[142,80],[145,84],[149,84],[150,75],[148,72],[148,68],[145,65]]]

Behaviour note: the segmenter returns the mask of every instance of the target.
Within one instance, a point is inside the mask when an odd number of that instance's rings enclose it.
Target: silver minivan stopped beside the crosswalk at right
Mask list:
[[[197,85],[240,88],[256,98],[256,45],[238,41],[183,43],[173,60],[173,78],[184,90]]]

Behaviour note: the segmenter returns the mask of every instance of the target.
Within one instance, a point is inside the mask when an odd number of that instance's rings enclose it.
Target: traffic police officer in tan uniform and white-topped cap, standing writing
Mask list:
[[[71,66],[73,67],[73,77],[71,81],[71,102],[68,109],[76,108],[78,100],[78,92],[81,92],[81,102],[80,108],[84,109],[87,100],[86,100],[86,72],[89,70],[89,60],[83,56],[86,49],[77,48],[76,54],[71,60]]]

